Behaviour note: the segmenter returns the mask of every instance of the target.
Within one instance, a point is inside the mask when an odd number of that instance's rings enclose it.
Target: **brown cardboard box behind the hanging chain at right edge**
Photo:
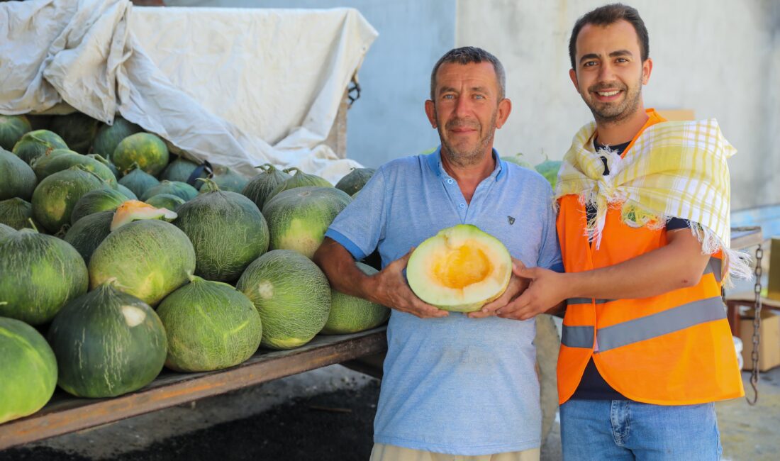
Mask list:
[[[753,310],[739,318],[739,339],[742,339],[743,370],[753,370]],[[761,339],[758,343],[758,370],[767,371],[780,365],[780,316],[761,309]]]

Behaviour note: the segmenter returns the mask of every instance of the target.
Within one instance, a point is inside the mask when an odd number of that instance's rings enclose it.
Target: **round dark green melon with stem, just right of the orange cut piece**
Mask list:
[[[205,193],[176,209],[173,224],[193,243],[195,274],[231,282],[268,250],[268,224],[252,200],[206,181]]]

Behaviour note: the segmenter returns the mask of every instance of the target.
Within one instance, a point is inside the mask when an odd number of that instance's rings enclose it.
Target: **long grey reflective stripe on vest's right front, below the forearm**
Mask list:
[[[725,317],[726,311],[720,296],[693,301],[658,314],[599,328],[598,352],[603,353],[609,349],[678,332],[693,325]]]

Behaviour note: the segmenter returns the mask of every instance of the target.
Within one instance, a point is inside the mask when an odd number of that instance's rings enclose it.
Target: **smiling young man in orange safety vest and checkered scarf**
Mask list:
[[[722,277],[747,269],[728,246],[725,159],[735,150],[714,120],[666,122],[645,110],[648,50],[626,5],[574,26],[569,75],[595,123],[558,173],[566,272],[516,268],[530,287],[496,310],[526,319],[566,301],[564,459],[718,459],[712,402],[743,395],[720,299]]]

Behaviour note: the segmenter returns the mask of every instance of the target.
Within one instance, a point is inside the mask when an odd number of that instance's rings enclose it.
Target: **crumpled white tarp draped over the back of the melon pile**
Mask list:
[[[0,113],[62,103],[119,112],[198,160],[270,161],[334,181],[324,144],[377,32],[355,9],[133,8],[128,0],[0,3]]]

